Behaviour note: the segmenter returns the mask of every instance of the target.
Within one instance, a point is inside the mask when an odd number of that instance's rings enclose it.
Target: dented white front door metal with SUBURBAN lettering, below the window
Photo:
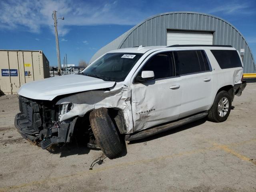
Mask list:
[[[132,84],[134,132],[178,119],[182,88],[180,77]]]

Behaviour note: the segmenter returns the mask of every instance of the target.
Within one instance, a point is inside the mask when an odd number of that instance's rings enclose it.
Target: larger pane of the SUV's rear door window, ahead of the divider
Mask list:
[[[201,66],[196,51],[175,51],[177,75],[201,72]]]

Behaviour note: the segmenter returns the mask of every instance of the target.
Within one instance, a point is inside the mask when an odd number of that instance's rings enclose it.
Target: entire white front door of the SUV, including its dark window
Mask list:
[[[143,65],[143,64],[142,64]],[[172,52],[152,56],[138,71],[154,71],[154,80],[131,84],[134,132],[176,120],[180,114],[181,80],[176,76]]]

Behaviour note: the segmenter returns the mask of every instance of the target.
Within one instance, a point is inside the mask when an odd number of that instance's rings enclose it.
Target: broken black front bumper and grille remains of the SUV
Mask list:
[[[40,142],[42,149],[70,141],[77,118],[59,123],[52,118],[54,112],[46,106],[23,97],[19,102],[21,112],[15,116],[14,125],[23,138]],[[43,114],[49,117],[47,121]]]

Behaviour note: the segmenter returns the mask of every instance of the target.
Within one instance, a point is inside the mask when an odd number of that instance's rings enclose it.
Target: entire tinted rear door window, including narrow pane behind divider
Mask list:
[[[174,57],[177,75],[210,70],[208,60],[203,51],[176,51],[174,52]]]

